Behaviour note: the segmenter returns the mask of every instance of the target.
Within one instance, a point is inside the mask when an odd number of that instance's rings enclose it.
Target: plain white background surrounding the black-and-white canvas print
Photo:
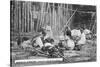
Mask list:
[[[68,64],[56,64],[57,67],[99,67],[100,63],[100,1],[99,0],[28,0],[28,1],[40,1],[40,2],[57,2],[57,3],[69,3],[69,4],[84,4],[84,5],[97,5],[97,36],[98,36],[98,60],[97,62],[82,62],[82,63],[68,63]],[[10,64],[10,0],[0,0],[0,67],[8,67]],[[55,67],[55,65],[41,65],[41,67]],[[27,66],[33,67],[33,66]],[[36,66],[38,67],[38,66]]]

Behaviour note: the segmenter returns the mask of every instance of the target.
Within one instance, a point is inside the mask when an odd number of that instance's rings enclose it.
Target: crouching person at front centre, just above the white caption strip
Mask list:
[[[42,51],[48,54],[48,57],[59,57],[58,53],[60,52],[58,48],[54,45],[54,40],[47,38],[45,40]]]

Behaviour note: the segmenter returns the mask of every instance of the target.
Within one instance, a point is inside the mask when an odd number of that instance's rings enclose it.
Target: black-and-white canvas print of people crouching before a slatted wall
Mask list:
[[[10,66],[95,62],[95,5],[10,0]]]

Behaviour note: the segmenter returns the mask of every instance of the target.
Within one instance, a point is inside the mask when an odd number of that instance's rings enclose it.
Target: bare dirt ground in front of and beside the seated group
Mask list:
[[[68,58],[69,62],[63,61],[51,61],[51,62],[27,62],[27,63],[15,63],[18,59],[39,59],[46,58],[45,56],[31,56],[30,52],[26,52],[23,49],[17,47],[11,48],[11,64],[12,67],[23,67],[30,65],[45,65],[45,64],[61,64],[61,63],[76,63],[76,62],[92,62],[96,61],[96,41],[87,40],[86,44],[81,47],[80,51],[64,51],[64,56]]]

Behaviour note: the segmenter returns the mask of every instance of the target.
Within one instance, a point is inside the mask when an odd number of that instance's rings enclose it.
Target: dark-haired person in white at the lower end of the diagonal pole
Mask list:
[[[59,46],[64,47],[69,50],[73,50],[75,44],[74,44],[74,41],[72,40],[70,28],[66,27],[63,32],[64,34],[60,36],[60,43],[58,43]]]

